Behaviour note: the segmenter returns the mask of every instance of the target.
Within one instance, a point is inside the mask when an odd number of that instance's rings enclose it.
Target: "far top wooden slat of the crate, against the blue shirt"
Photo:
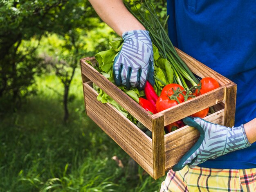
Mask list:
[[[210,67],[207,67],[206,65],[202,64],[195,58],[189,56],[188,54],[185,54],[183,51],[181,51],[178,48],[175,48],[177,51],[177,54],[184,60],[184,62],[188,65],[189,69],[196,75],[200,76],[201,78],[204,77],[212,77],[220,83],[221,86],[227,85],[230,83],[233,83],[231,80],[225,78],[221,74],[217,73],[216,71],[213,71]]]

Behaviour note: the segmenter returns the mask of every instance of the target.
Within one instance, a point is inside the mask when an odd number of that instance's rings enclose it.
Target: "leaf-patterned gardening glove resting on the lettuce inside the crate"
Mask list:
[[[139,90],[144,89],[147,80],[154,85],[153,46],[148,31],[126,31],[123,39],[113,65],[115,83]]]

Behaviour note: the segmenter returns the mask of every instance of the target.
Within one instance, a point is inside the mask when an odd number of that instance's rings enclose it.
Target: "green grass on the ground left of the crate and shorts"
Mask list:
[[[0,117],[0,191],[159,191],[139,167],[131,179],[129,156],[85,115],[80,70],[63,124],[63,88],[55,76],[37,78],[38,94]],[[117,155],[124,168],[111,158]]]

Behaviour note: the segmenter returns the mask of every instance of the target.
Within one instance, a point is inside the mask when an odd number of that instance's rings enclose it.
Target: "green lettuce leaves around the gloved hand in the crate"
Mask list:
[[[115,56],[121,50],[123,45],[123,40],[121,38],[115,38],[110,43],[110,49],[107,51],[101,51],[95,55],[99,63],[99,72],[112,83],[115,83],[112,66],[114,64]],[[153,53],[154,53],[154,71],[155,76],[162,80],[163,83],[169,84],[173,83],[173,69],[171,68],[171,63],[162,57],[162,54],[159,54],[159,51],[155,45],[153,45]],[[97,66],[95,66],[97,67]],[[154,89],[158,95],[160,95],[164,84],[162,84],[159,80],[155,80]],[[108,94],[103,92],[99,87],[93,85],[94,89],[97,90],[99,96],[97,99],[102,103],[110,103],[112,104],[119,112],[124,114],[128,119],[130,119],[133,123],[137,124],[137,119],[135,119],[131,114],[129,114],[123,107],[121,107],[115,100],[113,100]],[[131,87],[127,89],[124,85],[117,86],[123,92],[125,92],[128,96],[130,96],[133,100],[139,103],[139,97],[145,96],[144,90],[139,91],[136,87]]]

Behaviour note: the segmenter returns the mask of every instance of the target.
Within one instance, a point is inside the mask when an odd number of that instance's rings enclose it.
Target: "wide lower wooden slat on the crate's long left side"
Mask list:
[[[88,83],[83,86],[87,115],[154,177],[152,140],[115,107],[98,101],[97,92]]]

